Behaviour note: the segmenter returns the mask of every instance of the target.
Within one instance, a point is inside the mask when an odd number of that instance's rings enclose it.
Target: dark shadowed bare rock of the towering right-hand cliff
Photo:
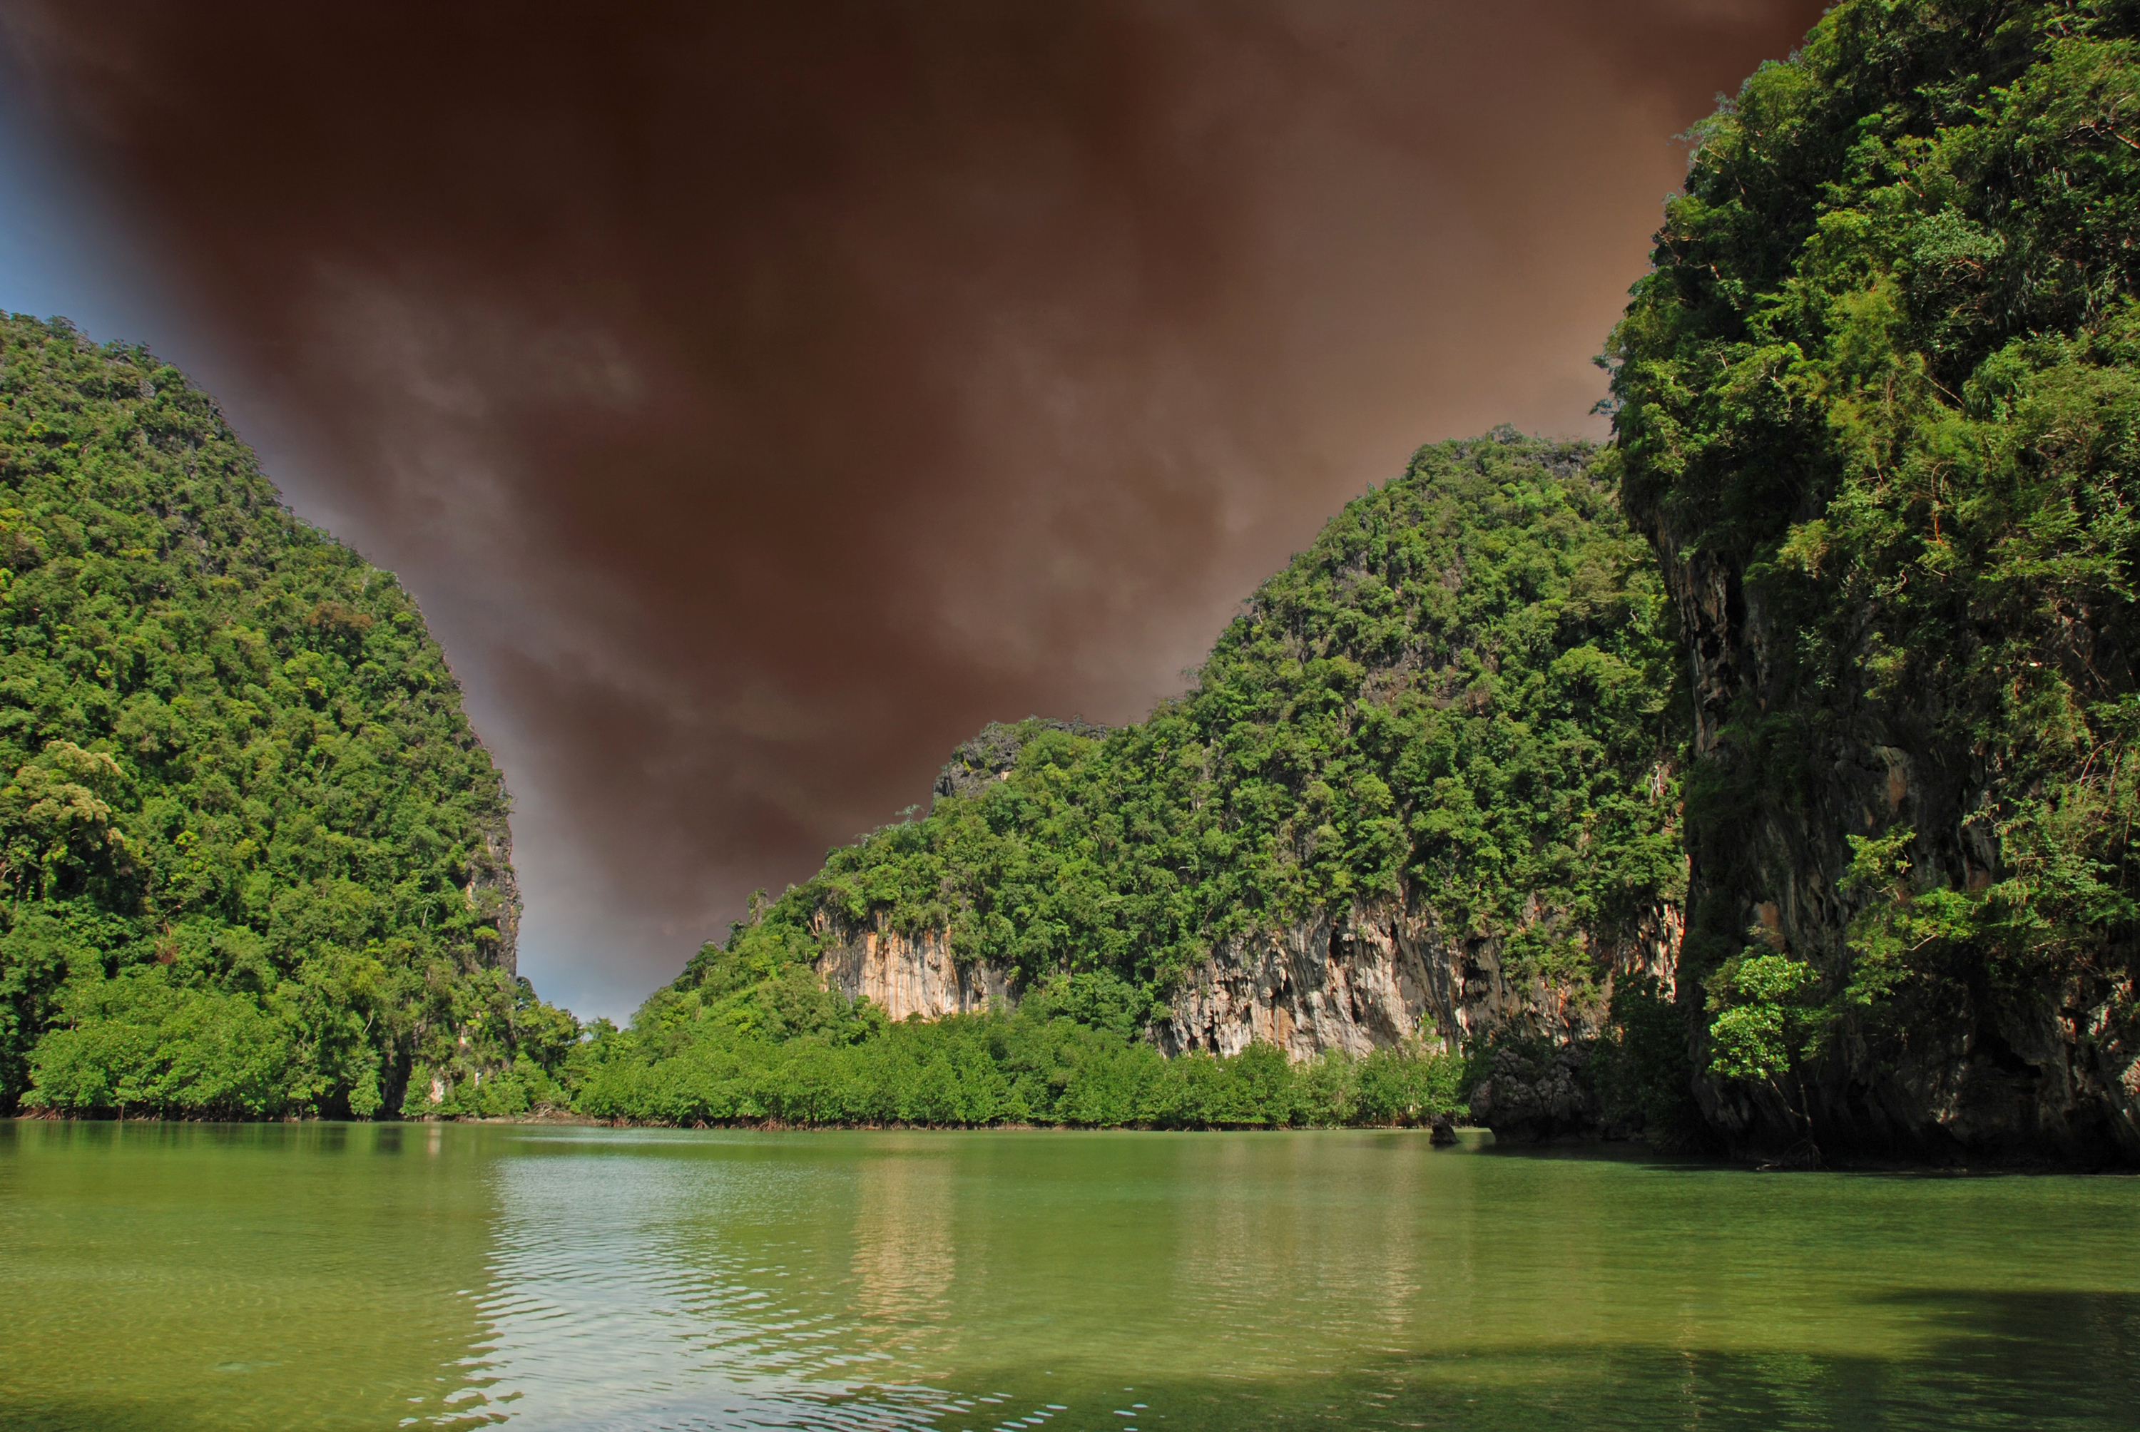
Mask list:
[[[1731,771],[1751,760],[1721,738],[1736,704],[1787,709],[1778,631],[1759,593],[1712,550],[1686,554],[1656,514],[1650,539],[1686,631],[1695,681],[1695,758]],[[1838,888],[1845,837],[1890,824],[1917,831],[1915,888],[1980,888],[1999,878],[1984,813],[1992,773],[1935,713],[1849,694],[1804,713],[1808,751],[1798,790],[1757,792],[1723,820],[1691,824],[1688,912],[1693,978],[1759,938],[1823,970],[1847,968],[1858,899]],[[1751,935],[1751,931],[1759,931]],[[1980,972],[1937,995],[1905,995],[1885,1032],[1847,1030],[1808,1070],[1813,1132],[1828,1156],[2140,1160],[2140,1006],[2129,976],[2069,978],[2029,997],[1999,993]],[[1699,987],[1686,991],[1699,1000]],[[1691,1015],[1699,1019],[1697,1010]],[[1766,1087],[1699,1077],[1708,1124],[1744,1149],[1800,1141],[1785,1100]]]

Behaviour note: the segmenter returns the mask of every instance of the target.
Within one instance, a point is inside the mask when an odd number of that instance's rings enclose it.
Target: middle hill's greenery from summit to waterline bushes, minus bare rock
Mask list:
[[[1455,985],[1440,1004],[1423,985],[1393,995],[1387,1025],[1333,1010],[1329,1038],[1293,1038],[1333,1085],[1406,1047],[1594,1034],[1614,974],[1669,944],[1684,717],[1669,711],[1663,589],[1590,458],[1509,430],[1421,450],[1248,599],[1190,694],[1113,732],[995,728],[927,816],[835,850],[708,944],[601,1040],[586,1107],[753,1117],[768,1087],[828,1079],[856,1090],[830,1117],[880,1117],[860,1113],[877,1107],[869,1081],[837,1072],[860,1055],[798,1053],[890,1038],[882,1012],[822,987],[835,946],[880,935],[942,938],[1023,1000],[997,1023],[1025,1034],[993,1053],[982,1015],[946,1021],[974,1038],[931,1036],[948,1040],[952,1122],[1286,1122],[1183,1113],[1168,1083],[1211,1049],[1175,1008],[1196,970],[1273,931],[1320,931],[1310,955],[1344,974],[1372,961],[1335,931],[1387,925]],[[1504,1006],[1485,1004],[1487,985]],[[1181,1070],[1132,1051],[1147,1027],[1192,1051]],[[1271,1042],[1284,1036],[1258,1032],[1235,1057]],[[916,1070],[933,1057],[920,1049]],[[1089,1060],[1126,1062],[1104,1117],[1072,1113]],[[792,1072],[768,1085],[773,1066]],[[1459,1094],[1449,1070],[1419,1079]],[[1299,1117],[1370,1117],[1350,1096],[1316,1098],[1323,1113]]]

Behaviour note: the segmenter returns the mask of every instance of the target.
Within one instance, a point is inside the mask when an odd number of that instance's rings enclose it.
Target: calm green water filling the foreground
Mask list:
[[[0,1124],[6,1428],[2131,1428],[2140,1179]]]

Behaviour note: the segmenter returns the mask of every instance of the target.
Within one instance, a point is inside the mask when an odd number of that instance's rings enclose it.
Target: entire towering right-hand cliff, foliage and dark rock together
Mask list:
[[[1714,1128],[2140,1158],[2140,6],[1847,0],[1611,340]]]

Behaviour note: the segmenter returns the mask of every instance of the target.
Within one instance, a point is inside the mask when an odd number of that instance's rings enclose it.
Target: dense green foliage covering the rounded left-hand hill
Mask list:
[[[0,1109],[511,1111],[578,1038],[394,578],[175,368],[6,315],[0,773]]]

